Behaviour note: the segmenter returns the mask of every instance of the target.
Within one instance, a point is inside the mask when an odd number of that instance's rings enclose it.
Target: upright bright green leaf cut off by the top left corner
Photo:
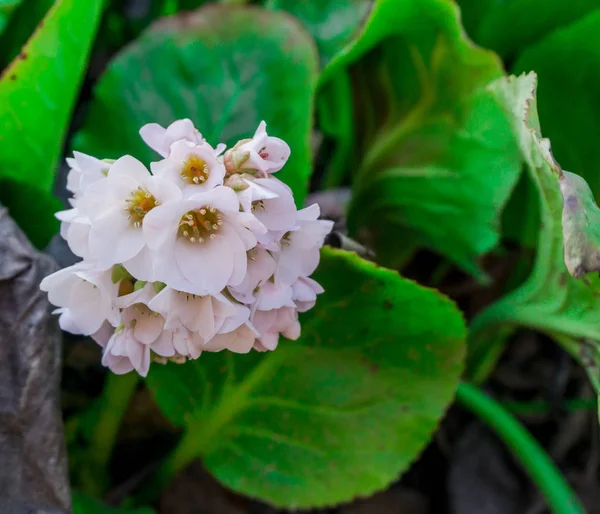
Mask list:
[[[101,8],[58,0],[0,77],[0,198],[38,246],[57,228],[54,173]]]

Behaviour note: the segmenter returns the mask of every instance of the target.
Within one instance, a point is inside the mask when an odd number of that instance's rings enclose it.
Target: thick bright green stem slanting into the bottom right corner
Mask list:
[[[579,499],[532,435],[496,400],[463,382],[456,399],[496,432],[545,496],[554,514],[584,514]]]

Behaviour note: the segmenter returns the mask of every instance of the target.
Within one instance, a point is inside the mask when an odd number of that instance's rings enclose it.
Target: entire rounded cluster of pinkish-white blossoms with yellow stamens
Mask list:
[[[290,149],[266,133],[213,148],[188,120],[140,130],[162,160],[67,159],[72,208],[61,234],[83,260],[41,283],[63,330],[91,335],[115,373],[203,351],[274,350],[297,339],[298,312],[332,228],[319,207],[297,210],[273,176]]]

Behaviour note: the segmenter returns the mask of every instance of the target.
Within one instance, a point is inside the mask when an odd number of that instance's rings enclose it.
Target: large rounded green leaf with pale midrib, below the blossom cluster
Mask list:
[[[152,369],[159,407],[185,428],[167,475],[202,457],[236,491],[315,507],[384,488],[423,449],[460,378],[460,312],[347,252],[325,249],[315,278],[325,293],[299,341]]]

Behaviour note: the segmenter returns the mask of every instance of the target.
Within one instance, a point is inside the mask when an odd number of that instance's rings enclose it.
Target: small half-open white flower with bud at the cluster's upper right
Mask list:
[[[278,137],[268,136],[266,127],[261,121],[252,139],[242,140],[225,152],[229,173],[244,170],[275,173],[283,168],[290,156],[290,147]]]

